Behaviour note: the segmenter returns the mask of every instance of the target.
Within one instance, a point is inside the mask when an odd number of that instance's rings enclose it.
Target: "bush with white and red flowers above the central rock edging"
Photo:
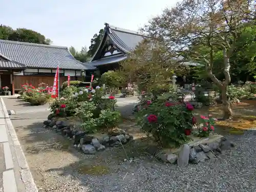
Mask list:
[[[77,91],[77,92],[74,92]],[[73,87],[65,88],[60,99],[50,103],[55,117],[78,117],[83,131],[94,132],[97,129],[112,129],[118,125],[120,113],[115,111],[114,96],[105,97],[100,87],[95,89]]]

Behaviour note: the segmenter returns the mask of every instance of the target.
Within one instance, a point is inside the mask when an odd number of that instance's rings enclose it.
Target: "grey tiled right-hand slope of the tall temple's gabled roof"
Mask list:
[[[108,24],[106,24],[105,31],[114,44],[125,53],[132,52],[146,37],[143,33],[117,28]]]

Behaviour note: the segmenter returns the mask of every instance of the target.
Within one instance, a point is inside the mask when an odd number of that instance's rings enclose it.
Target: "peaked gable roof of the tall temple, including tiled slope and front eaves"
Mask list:
[[[103,49],[104,42],[107,36],[111,39],[111,41],[115,44],[115,46],[123,53],[123,55],[126,55],[127,53],[131,53],[136,48],[136,46],[138,46],[139,43],[146,37],[146,35],[143,33],[118,28],[105,23],[104,35],[101,39],[98,49],[96,50],[96,52],[94,53],[90,61],[90,62],[93,62],[92,63],[93,66],[98,66],[98,63],[96,62],[96,60],[98,60],[97,57],[99,56],[100,52]],[[111,59],[108,59],[108,60],[111,60]],[[108,64],[108,63],[102,63],[101,61],[99,65],[104,65],[104,64]]]

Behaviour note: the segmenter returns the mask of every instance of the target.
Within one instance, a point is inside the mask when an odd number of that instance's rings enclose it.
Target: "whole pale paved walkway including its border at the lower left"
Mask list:
[[[0,192],[37,192],[4,100],[0,99]]]

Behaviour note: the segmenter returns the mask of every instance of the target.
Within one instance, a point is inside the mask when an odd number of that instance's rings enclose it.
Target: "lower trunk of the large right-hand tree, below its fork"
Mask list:
[[[231,119],[233,112],[231,110],[230,102],[228,101],[227,86],[223,84],[221,86],[221,98],[223,104],[223,120]]]

